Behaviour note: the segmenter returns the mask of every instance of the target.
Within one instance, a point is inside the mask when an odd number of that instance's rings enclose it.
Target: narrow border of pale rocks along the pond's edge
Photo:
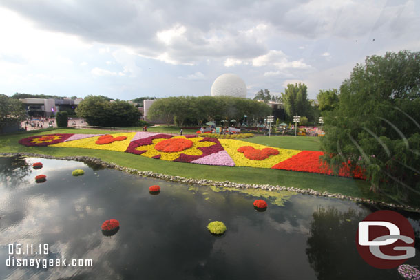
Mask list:
[[[322,196],[322,197],[335,197],[335,198],[339,198],[340,200],[350,200],[350,201],[358,202],[358,203],[376,204],[379,206],[398,208],[398,209],[406,210],[406,211],[420,212],[420,208],[414,208],[408,205],[393,204],[393,203],[388,203],[388,202],[377,202],[374,200],[365,200],[359,197],[351,197],[350,195],[341,195],[339,193],[329,193],[328,191],[319,192],[319,191],[314,191],[313,189],[299,189],[293,186],[288,187],[288,186],[279,186],[279,185],[273,186],[269,184],[243,184],[243,183],[234,183],[234,182],[229,182],[229,181],[220,182],[220,181],[213,181],[213,180],[207,180],[207,179],[189,179],[189,178],[180,177],[180,176],[171,176],[171,175],[156,173],[153,171],[138,171],[137,169],[131,169],[128,167],[119,166],[118,164],[105,162],[101,160],[100,158],[87,157],[83,155],[65,156],[65,157],[55,157],[53,155],[42,155],[39,153],[0,153],[0,155],[24,156],[24,157],[32,157],[32,158],[47,158],[47,159],[52,159],[52,160],[74,160],[78,162],[90,162],[93,164],[101,165],[105,168],[116,169],[116,170],[123,171],[125,173],[140,175],[141,177],[151,177],[151,178],[166,180],[169,182],[180,182],[180,183],[185,183],[185,184],[199,184],[202,186],[222,186],[222,187],[237,188],[237,189],[263,189],[267,191],[293,191],[295,193],[302,193],[302,194],[307,194],[307,195],[315,195],[315,196]]]

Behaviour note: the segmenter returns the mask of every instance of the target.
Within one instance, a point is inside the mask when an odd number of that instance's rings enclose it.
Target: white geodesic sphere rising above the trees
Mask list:
[[[211,96],[233,96],[246,98],[246,85],[240,76],[223,74],[214,80]]]

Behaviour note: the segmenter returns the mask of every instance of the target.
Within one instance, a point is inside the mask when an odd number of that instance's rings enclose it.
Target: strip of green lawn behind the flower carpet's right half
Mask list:
[[[241,139],[242,141],[266,146],[296,149],[306,151],[321,151],[319,146],[319,137],[309,136],[255,136],[253,138]]]

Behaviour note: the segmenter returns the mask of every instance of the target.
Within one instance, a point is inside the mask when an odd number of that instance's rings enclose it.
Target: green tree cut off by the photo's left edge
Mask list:
[[[0,130],[25,120],[26,113],[19,100],[0,94]]]

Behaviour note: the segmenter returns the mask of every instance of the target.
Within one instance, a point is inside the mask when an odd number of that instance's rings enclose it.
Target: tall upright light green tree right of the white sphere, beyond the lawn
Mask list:
[[[284,101],[284,109],[289,120],[293,116],[311,116],[311,103],[308,100],[308,88],[305,84],[288,84],[284,89],[282,98]]]

